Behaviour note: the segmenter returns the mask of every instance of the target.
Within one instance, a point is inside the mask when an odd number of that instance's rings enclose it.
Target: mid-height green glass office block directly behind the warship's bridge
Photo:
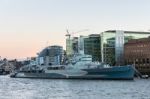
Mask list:
[[[67,56],[75,53],[92,55],[93,61],[101,62],[100,34],[80,36],[66,39]]]

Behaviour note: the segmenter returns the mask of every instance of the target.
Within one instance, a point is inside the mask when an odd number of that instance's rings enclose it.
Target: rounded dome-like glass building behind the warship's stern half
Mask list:
[[[44,48],[38,55],[38,63],[44,65],[60,65],[63,61],[62,46],[49,46]]]

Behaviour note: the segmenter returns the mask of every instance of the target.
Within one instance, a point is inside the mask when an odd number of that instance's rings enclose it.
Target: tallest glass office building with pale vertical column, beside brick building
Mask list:
[[[150,32],[109,30],[101,33],[101,59],[110,65],[124,64],[124,43],[150,36]]]

